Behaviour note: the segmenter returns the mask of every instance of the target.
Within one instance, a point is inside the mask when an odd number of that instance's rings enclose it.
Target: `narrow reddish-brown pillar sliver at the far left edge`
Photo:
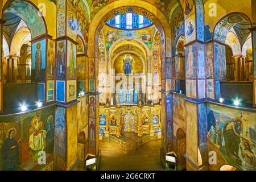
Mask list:
[[[2,69],[2,59],[3,59],[3,23],[5,20],[0,19],[0,113],[3,111],[3,69]]]

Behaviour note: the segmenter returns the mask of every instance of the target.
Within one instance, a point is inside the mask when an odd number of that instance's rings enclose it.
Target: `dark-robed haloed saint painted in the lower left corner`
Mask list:
[[[7,134],[8,138],[3,143],[2,169],[3,171],[14,171],[19,166],[19,145],[15,139],[16,129],[9,129]]]

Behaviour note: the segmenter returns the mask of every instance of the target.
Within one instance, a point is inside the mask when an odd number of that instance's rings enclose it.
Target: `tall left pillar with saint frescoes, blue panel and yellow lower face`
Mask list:
[[[57,110],[64,113],[61,119],[67,134],[64,143],[66,170],[71,169],[77,162],[77,24],[70,23],[76,21],[76,15],[77,5],[72,1],[57,1],[55,93],[56,101],[60,102]]]

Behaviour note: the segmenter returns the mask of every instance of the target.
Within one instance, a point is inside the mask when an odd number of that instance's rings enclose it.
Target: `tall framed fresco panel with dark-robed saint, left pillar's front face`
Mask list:
[[[57,79],[65,78],[65,64],[66,64],[66,42],[61,40],[57,42]]]

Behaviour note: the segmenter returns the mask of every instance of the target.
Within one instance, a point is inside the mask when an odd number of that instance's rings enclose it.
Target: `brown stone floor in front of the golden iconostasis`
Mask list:
[[[101,171],[160,171],[161,140],[151,140],[138,150],[125,154],[112,142],[101,141]]]

